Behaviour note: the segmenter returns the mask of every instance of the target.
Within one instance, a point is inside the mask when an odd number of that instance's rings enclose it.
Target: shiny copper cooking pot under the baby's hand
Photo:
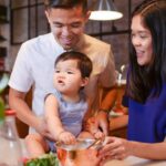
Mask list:
[[[61,166],[97,166],[97,151],[102,142],[96,139],[77,139],[73,145],[56,143],[58,158]]]

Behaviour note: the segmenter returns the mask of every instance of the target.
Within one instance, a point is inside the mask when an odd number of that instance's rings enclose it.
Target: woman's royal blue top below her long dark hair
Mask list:
[[[128,139],[144,143],[163,142],[166,136],[166,84],[159,97],[145,104],[128,101]]]

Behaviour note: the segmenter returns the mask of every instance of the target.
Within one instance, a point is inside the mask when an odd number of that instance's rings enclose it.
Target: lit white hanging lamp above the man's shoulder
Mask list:
[[[112,0],[96,0],[90,20],[108,21],[121,19],[123,13],[116,10]]]

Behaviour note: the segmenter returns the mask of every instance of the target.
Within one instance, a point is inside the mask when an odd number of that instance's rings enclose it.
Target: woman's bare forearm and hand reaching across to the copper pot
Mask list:
[[[166,159],[166,142],[141,143],[118,137],[106,137],[105,145],[100,151],[100,157],[105,159],[124,159],[136,156],[146,159]]]

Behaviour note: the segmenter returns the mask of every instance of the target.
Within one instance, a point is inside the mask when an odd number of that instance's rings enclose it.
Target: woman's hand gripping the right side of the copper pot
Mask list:
[[[129,155],[129,142],[118,137],[105,137],[103,147],[98,152],[102,163],[108,159],[124,159]]]

